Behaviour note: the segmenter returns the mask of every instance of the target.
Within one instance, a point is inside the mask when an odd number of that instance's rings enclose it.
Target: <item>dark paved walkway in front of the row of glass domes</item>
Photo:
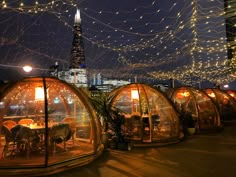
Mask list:
[[[236,126],[164,147],[107,150],[96,161],[50,177],[233,177]]]

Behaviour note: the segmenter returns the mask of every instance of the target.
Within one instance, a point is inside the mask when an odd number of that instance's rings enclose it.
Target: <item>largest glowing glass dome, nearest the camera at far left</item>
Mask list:
[[[101,154],[100,122],[81,89],[35,77],[1,90],[1,174],[58,172]]]

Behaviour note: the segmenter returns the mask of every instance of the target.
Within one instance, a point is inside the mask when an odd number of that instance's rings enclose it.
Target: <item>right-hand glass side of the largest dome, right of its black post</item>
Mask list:
[[[85,105],[64,84],[47,82],[47,88],[49,164],[94,153],[94,132]]]

